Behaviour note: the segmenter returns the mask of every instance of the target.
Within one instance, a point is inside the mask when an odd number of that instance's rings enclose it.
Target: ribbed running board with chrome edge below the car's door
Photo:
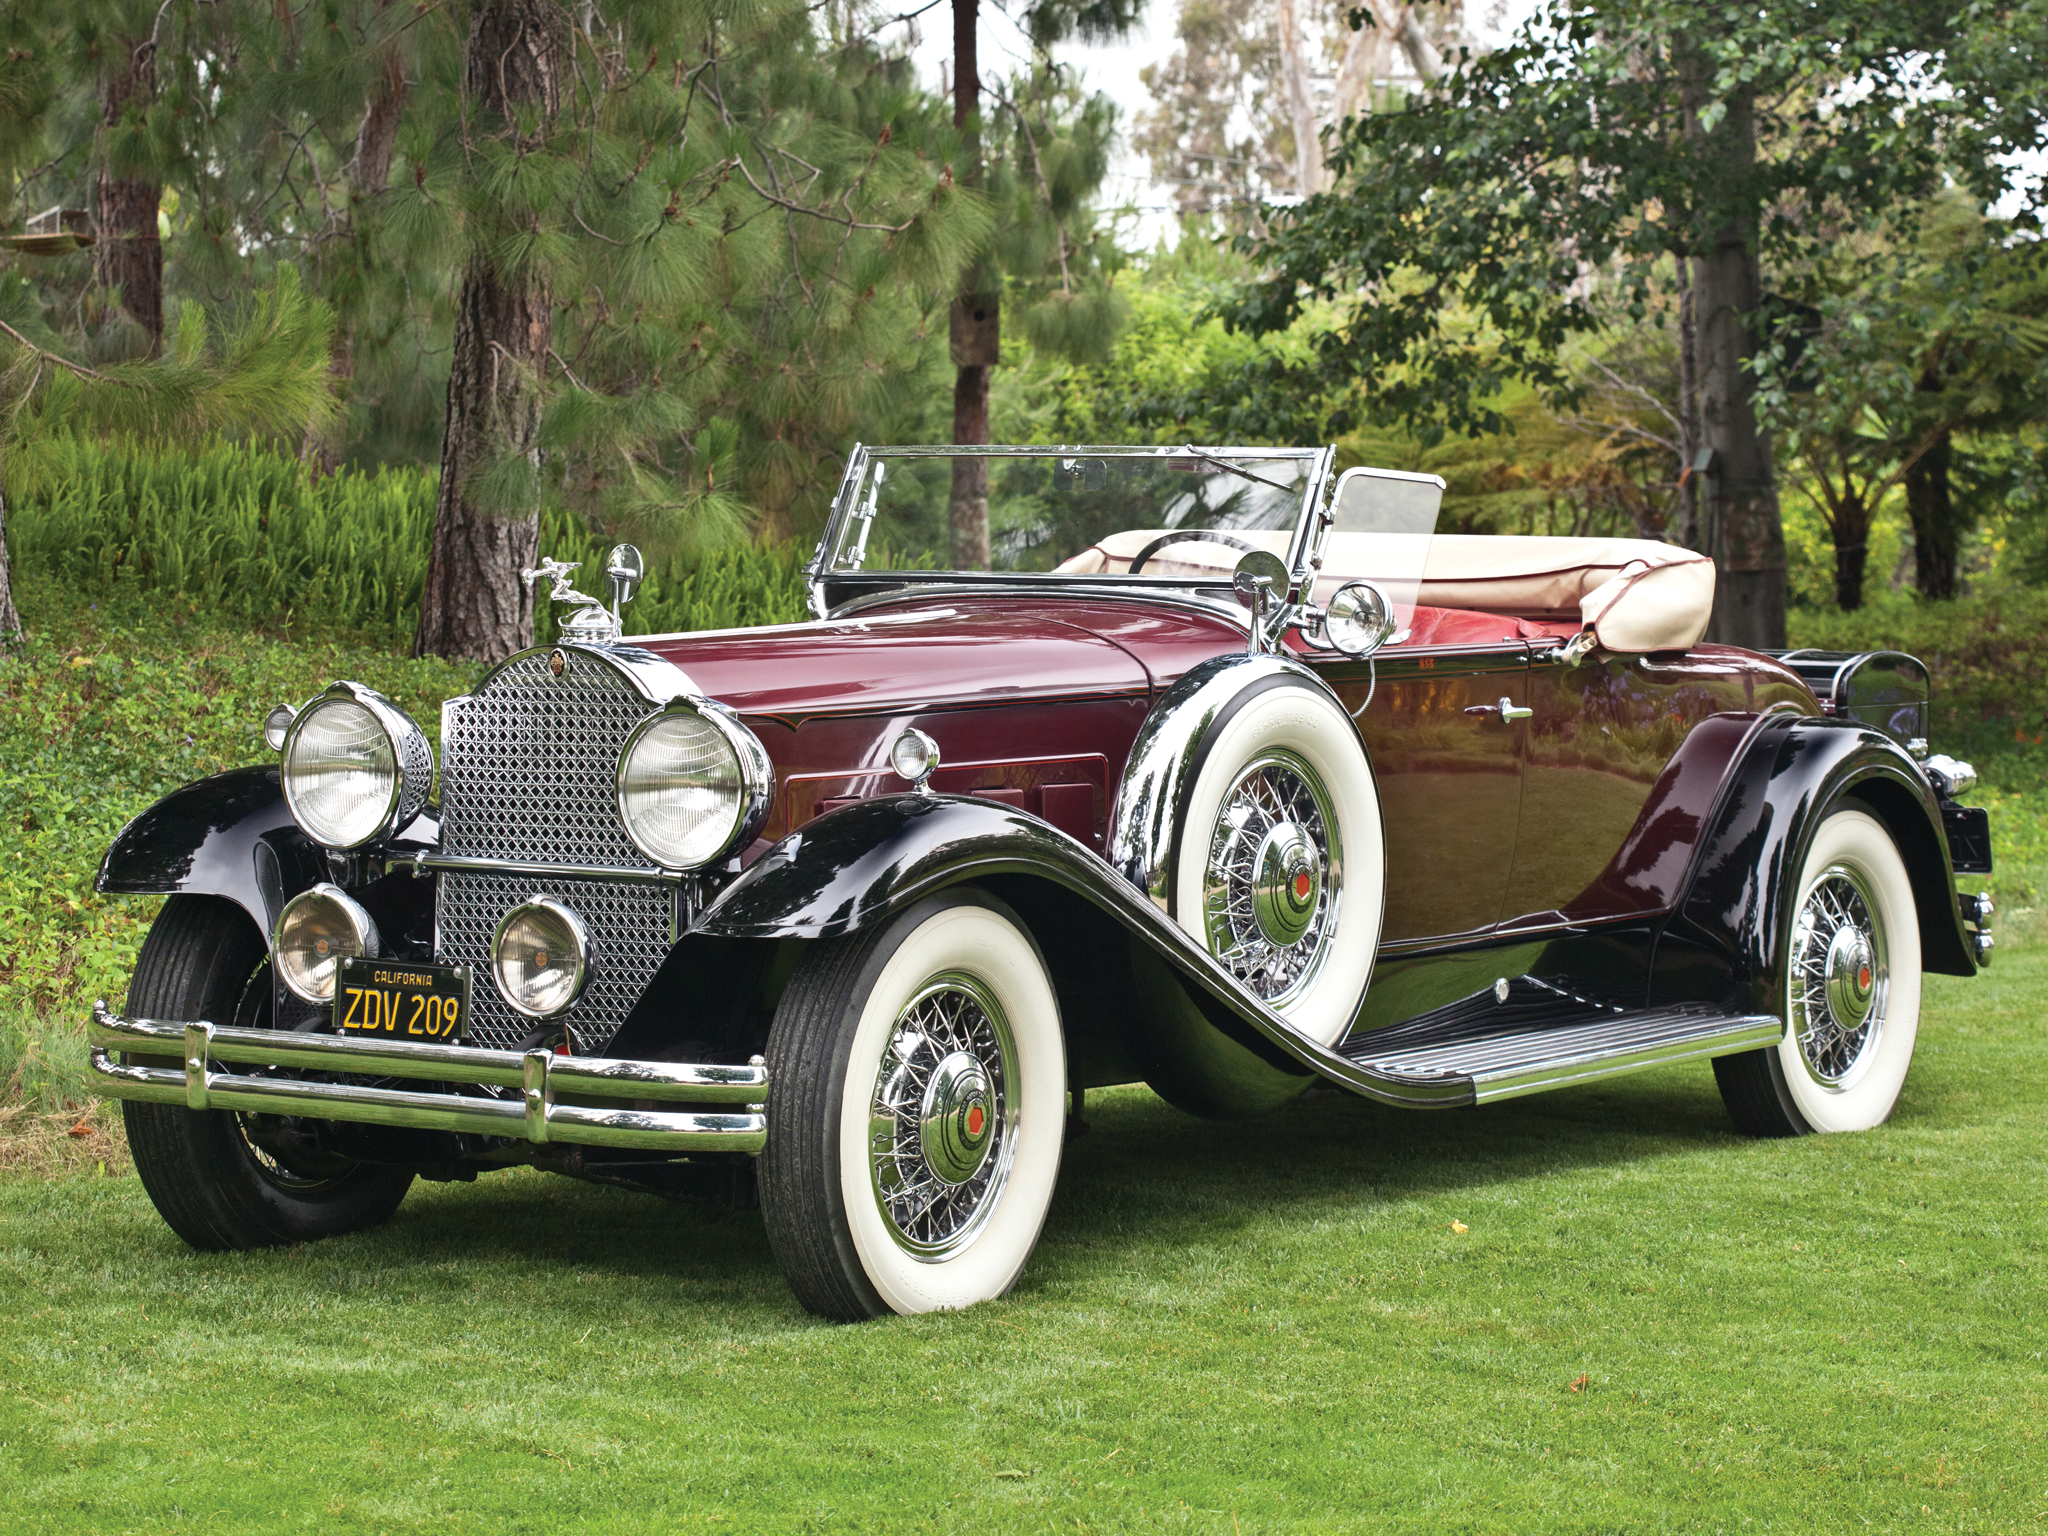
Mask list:
[[[1677,1004],[1581,1016],[1581,1022],[1550,1028],[1487,1030],[1475,1028],[1468,1018],[1438,1030],[1397,1024],[1346,1040],[1339,1051],[1360,1067],[1397,1079],[1464,1077],[1473,1083],[1473,1100],[1489,1104],[1673,1061],[1757,1051],[1778,1044],[1784,1032],[1784,1020],[1769,1014],[1724,1014],[1708,1004]]]

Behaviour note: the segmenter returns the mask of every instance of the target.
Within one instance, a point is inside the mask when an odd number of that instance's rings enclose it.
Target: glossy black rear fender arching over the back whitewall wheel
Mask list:
[[[1657,946],[1653,1001],[1702,997],[1698,967],[1724,975],[1733,1008],[1778,1014],[1798,870],[1821,819],[1843,797],[1884,821],[1913,881],[1921,969],[1976,975],[1962,926],[1942,807],[1919,766],[1855,721],[1784,715],[1761,723],[1729,776]]]

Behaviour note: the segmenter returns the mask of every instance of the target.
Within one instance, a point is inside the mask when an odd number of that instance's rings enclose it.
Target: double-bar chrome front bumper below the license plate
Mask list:
[[[350,1040],[336,1034],[233,1030],[121,1018],[92,1006],[86,1030],[92,1083],[111,1098],[182,1104],[188,1110],[299,1114],[311,1120],[360,1120],[418,1130],[465,1130],[532,1143],[647,1147],[653,1151],[743,1151],[768,1145],[768,1069],[680,1061],[557,1057],[549,1051],[481,1051],[465,1044]],[[123,1065],[111,1053],[178,1057],[180,1067]],[[424,1083],[516,1087],[518,1098],[356,1083],[309,1083],[256,1077],[219,1065],[297,1067],[350,1077],[399,1077]],[[680,1100],[733,1104],[735,1112],[641,1110],[563,1104],[561,1098]]]

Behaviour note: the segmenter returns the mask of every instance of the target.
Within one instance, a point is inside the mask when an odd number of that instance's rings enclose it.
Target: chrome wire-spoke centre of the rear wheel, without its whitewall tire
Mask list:
[[[1792,922],[1792,1032],[1806,1073],[1847,1087],[1884,1032],[1884,928],[1870,883],[1831,864],[1806,891]]]

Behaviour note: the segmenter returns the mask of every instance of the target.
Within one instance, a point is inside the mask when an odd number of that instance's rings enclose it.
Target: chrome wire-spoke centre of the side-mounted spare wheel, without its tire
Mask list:
[[[1292,752],[1260,754],[1223,797],[1208,842],[1210,954],[1266,1001],[1290,1001],[1323,963],[1341,885],[1323,780]]]

